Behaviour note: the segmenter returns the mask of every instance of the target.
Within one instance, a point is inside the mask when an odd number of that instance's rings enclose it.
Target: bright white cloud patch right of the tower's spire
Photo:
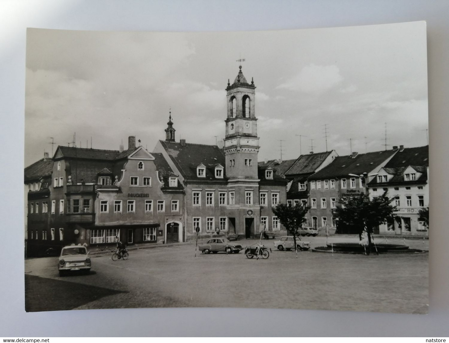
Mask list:
[[[299,74],[278,85],[277,89],[290,89],[305,93],[321,93],[339,85],[343,80],[337,66],[317,66],[309,64]]]

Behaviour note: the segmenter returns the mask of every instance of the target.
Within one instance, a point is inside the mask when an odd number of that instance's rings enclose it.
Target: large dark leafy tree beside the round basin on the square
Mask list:
[[[392,205],[392,200],[387,197],[387,192],[373,199],[364,193],[346,196],[339,199],[339,205],[333,210],[333,214],[338,219],[339,225],[355,227],[360,239],[363,232],[367,233],[367,254],[370,254],[374,227],[396,218],[397,209]]]

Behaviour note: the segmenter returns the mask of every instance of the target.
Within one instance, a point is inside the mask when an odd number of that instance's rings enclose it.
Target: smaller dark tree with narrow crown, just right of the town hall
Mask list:
[[[306,221],[305,216],[310,209],[310,206],[303,206],[296,204],[290,206],[287,204],[278,204],[272,208],[273,213],[279,219],[279,222],[286,228],[287,234],[293,236],[293,241],[296,248],[296,236],[299,236],[298,230]]]

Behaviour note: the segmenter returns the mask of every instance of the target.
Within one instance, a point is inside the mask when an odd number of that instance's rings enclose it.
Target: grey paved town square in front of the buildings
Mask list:
[[[312,247],[326,237],[304,237]],[[388,243],[401,244],[398,238]],[[333,236],[328,242],[355,242]],[[376,238],[379,243],[385,239]],[[255,240],[242,240],[243,246]],[[427,313],[428,253],[329,254],[278,251],[268,259],[201,254],[184,244],[130,249],[127,261],[92,254],[88,276],[59,277],[57,258],[25,261],[27,311],[129,307],[262,307]],[[427,240],[406,240],[428,249]],[[38,295],[38,296],[36,296]],[[46,299],[45,301],[40,301]]]

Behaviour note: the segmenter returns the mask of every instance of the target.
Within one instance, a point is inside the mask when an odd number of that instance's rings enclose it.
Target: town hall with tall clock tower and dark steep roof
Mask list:
[[[185,187],[185,236],[220,230],[243,237],[259,235],[260,224],[280,231],[271,207],[286,201],[287,181],[270,165],[258,165],[259,137],[255,117],[255,85],[242,66],[226,88],[228,102],[222,149],[215,145],[159,141],[161,153]]]

